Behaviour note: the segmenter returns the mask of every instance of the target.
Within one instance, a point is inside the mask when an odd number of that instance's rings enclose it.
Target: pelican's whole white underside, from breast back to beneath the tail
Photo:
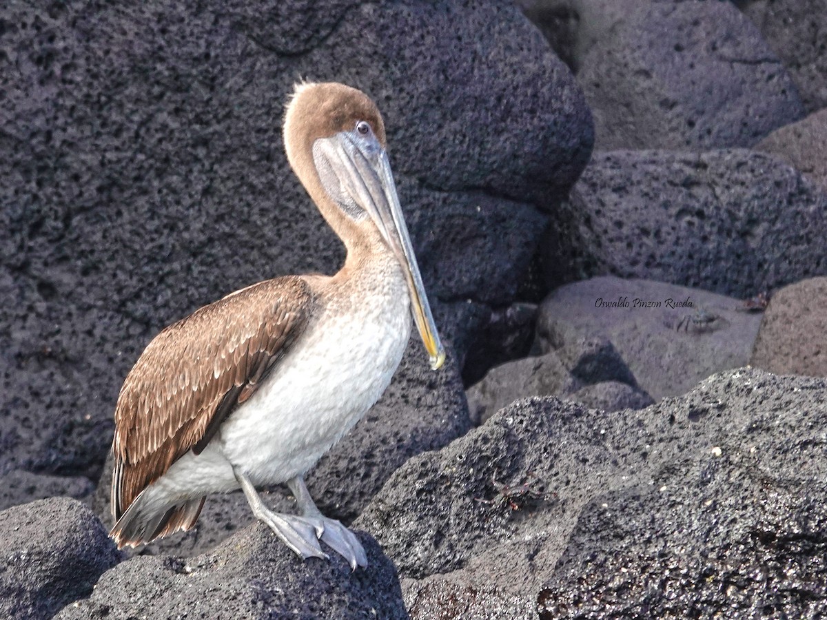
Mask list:
[[[178,498],[237,489],[233,465],[256,485],[304,475],[379,400],[402,360],[411,317],[401,274],[383,293],[327,306],[204,451],[182,456],[153,486]]]

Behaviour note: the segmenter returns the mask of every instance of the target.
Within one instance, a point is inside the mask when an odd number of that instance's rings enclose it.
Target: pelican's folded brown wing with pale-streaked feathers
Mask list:
[[[189,450],[207,446],[304,331],[313,293],[303,279],[267,280],[170,325],[127,375],[115,408],[112,514]]]

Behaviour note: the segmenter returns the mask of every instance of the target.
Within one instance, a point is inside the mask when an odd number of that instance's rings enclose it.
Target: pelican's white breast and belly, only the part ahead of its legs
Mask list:
[[[327,312],[222,425],[224,455],[253,484],[304,474],[379,400],[410,336],[407,295],[402,300],[361,316]]]

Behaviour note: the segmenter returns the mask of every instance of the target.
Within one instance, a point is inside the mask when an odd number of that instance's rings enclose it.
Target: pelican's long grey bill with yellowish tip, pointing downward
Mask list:
[[[321,142],[322,140],[320,140]],[[439,340],[437,324],[419,273],[414,247],[405,225],[402,207],[396,194],[396,184],[390,171],[390,161],[378,143],[366,147],[348,133],[323,139],[324,155],[336,170],[342,188],[353,201],[365,209],[402,265],[411,299],[419,336],[431,358],[431,368],[437,370],[445,362],[445,349]]]

